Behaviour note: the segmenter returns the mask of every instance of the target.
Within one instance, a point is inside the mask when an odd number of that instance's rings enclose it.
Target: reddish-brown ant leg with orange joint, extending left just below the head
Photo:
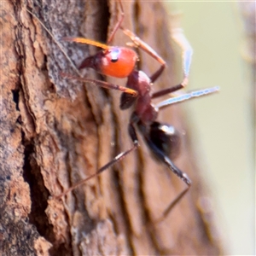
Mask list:
[[[132,90],[130,88],[120,86],[120,85],[117,85],[117,84],[111,84],[111,83],[104,82],[104,81],[101,81],[101,80],[96,80],[96,79],[79,78],[79,77],[76,77],[76,76],[73,76],[73,75],[70,75],[70,74],[67,74],[67,73],[61,73],[61,76],[64,77],[64,78],[67,78],[67,79],[76,79],[76,80],[81,81],[81,82],[90,82],[92,84],[95,84],[95,85],[98,85],[102,88],[106,88],[106,89],[110,89],[110,90],[119,90],[119,91],[122,91],[122,92],[125,92],[125,93],[131,95],[132,97],[137,96],[137,90]]]

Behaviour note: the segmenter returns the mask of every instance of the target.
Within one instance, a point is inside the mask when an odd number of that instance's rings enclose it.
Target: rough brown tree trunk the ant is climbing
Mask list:
[[[174,81],[173,49],[161,3],[129,1],[124,26],[167,61],[154,90]],[[1,255],[218,255],[212,209],[202,189],[181,106],[160,120],[183,135],[177,166],[193,186],[161,223],[155,224],[184,184],[140,148],[91,179],[64,200],[58,195],[131,148],[131,111],[119,110],[119,92],[63,79],[73,73],[67,58],[26,8],[61,42],[65,36],[106,41],[119,14],[111,1],[6,1],[1,3]],[[118,32],[114,44],[128,41]],[[92,47],[64,45],[76,65]],[[140,53],[139,68],[159,63]],[[84,75],[99,77],[89,70]],[[111,80],[125,84],[125,79]]]

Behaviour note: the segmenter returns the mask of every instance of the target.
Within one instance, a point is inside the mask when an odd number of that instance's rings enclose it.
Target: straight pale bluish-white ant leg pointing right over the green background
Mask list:
[[[206,89],[202,89],[202,90],[194,90],[194,91],[191,91],[191,92],[188,92],[188,93],[185,93],[183,95],[180,95],[180,96],[175,96],[175,97],[172,97],[170,99],[167,99],[166,101],[163,101],[163,102],[159,102],[158,104],[156,104],[156,108],[165,108],[167,106],[170,106],[172,104],[176,104],[178,102],[185,102],[185,101],[188,101],[192,98],[195,98],[195,97],[200,97],[200,96],[207,96],[209,94],[212,94],[214,92],[218,92],[219,90],[219,87],[216,86],[216,87],[212,87],[212,88],[206,88]]]

